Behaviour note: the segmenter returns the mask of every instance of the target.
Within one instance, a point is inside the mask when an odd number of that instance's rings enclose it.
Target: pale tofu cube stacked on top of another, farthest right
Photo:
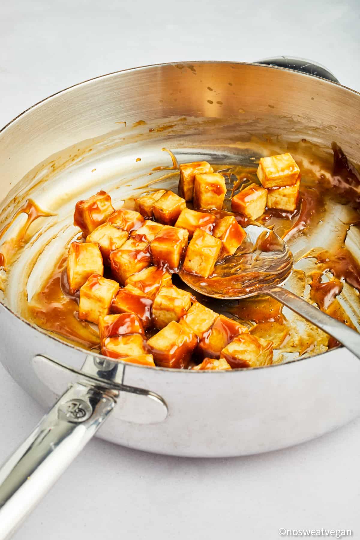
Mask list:
[[[292,186],[299,176],[300,168],[291,154],[279,154],[260,158],[257,178],[263,187]]]

